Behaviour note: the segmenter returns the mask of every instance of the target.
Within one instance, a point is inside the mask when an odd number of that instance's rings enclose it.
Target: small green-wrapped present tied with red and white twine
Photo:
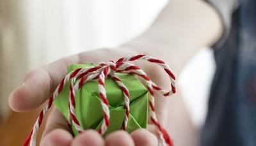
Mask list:
[[[161,66],[170,77],[170,91],[157,86],[131,61],[145,60]],[[145,82],[145,87],[138,78]],[[131,55],[118,61],[95,64],[73,64],[67,75],[49,97],[24,145],[36,145],[36,134],[45,113],[52,104],[60,110],[74,135],[95,129],[106,136],[116,130],[128,133],[147,128],[148,116],[157,127],[161,145],[173,145],[166,130],[158,122],[154,92],[170,96],[176,92],[175,76],[161,60],[148,55]]]

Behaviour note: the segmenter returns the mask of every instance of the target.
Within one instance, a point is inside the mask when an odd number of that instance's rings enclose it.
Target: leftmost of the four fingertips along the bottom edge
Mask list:
[[[40,146],[69,146],[73,137],[64,129],[54,129],[44,138],[42,138]]]

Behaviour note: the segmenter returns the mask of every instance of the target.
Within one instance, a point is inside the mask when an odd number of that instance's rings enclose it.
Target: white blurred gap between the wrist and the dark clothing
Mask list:
[[[206,119],[215,70],[212,48],[203,47],[188,62],[178,80],[184,103],[196,128],[201,128]]]

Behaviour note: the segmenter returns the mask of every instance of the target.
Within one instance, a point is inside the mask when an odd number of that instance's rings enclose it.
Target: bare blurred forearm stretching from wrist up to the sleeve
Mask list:
[[[191,56],[215,43],[222,33],[218,13],[199,0],[172,0],[152,26],[122,48],[154,55],[179,74]]]

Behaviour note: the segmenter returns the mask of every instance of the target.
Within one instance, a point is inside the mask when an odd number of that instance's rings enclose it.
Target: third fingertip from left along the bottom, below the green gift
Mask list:
[[[105,138],[106,146],[133,146],[132,137],[125,131],[116,131]]]

